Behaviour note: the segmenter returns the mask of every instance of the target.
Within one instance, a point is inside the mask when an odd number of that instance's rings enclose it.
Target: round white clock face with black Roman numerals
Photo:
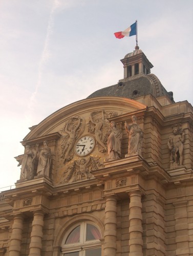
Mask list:
[[[87,156],[95,146],[95,140],[90,135],[85,135],[80,138],[75,145],[75,152],[78,156]]]

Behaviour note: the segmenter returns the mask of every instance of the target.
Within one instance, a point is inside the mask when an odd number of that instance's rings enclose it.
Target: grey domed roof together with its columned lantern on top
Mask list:
[[[151,94],[155,98],[167,95],[174,103],[173,93],[167,92],[157,76],[150,74],[153,65],[138,45],[133,52],[126,54],[121,62],[124,68],[124,79],[119,80],[113,86],[92,93],[88,98],[115,96],[134,99]]]

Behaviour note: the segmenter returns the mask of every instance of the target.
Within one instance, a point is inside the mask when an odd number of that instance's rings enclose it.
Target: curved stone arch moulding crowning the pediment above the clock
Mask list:
[[[146,109],[146,105],[132,99],[112,96],[80,100],[61,108],[42,120],[39,124],[34,125],[31,132],[24,138],[24,141],[55,132],[56,125],[60,125],[76,114],[80,115],[82,112],[91,112],[95,109],[104,108],[107,110],[120,109],[120,114],[122,114],[144,110]]]

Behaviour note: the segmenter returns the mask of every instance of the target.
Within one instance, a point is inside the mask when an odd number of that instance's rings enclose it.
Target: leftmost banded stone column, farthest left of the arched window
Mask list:
[[[23,216],[16,215],[13,218],[12,234],[10,239],[9,256],[19,256],[21,251]]]

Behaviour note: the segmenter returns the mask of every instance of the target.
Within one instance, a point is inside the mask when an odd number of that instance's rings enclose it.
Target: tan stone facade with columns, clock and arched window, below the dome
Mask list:
[[[124,70],[122,86],[149,76]],[[152,87],[161,90],[157,80]],[[193,108],[164,90],[91,96],[32,127],[16,157],[20,180],[1,194],[0,255],[193,255]],[[142,141],[128,154],[133,116]],[[115,159],[112,121],[121,134]]]

